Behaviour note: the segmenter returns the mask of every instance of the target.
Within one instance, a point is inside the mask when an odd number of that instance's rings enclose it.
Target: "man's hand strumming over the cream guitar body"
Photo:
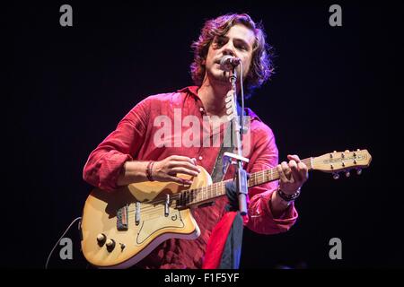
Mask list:
[[[198,176],[200,170],[197,160],[187,156],[171,155],[162,161],[155,161],[152,169],[152,177],[157,181],[173,181],[179,184],[192,184],[191,180],[177,177],[177,173],[187,174],[191,177]]]

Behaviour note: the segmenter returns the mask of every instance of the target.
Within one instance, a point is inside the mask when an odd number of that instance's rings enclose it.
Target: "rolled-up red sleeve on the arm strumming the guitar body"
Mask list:
[[[148,99],[139,102],[91,152],[83,168],[85,181],[106,191],[118,188],[117,180],[124,163],[132,161],[144,143],[149,105]]]

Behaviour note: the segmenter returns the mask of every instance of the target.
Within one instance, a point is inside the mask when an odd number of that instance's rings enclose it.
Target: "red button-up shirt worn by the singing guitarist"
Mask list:
[[[181,141],[176,136],[183,136],[187,130],[186,127],[182,126],[179,129],[179,125],[175,126],[176,123],[179,123],[175,121],[180,120],[177,118],[179,111],[181,118],[195,116],[201,123],[203,122],[206,112],[198,97],[197,86],[150,96],[139,102],[119,122],[116,130],[90,154],[83,169],[84,180],[106,192],[113,192],[118,188],[117,179],[125,161],[161,161],[173,154],[196,158],[198,165],[212,173],[220,146],[211,144],[211,146],[206,147],[205,145],[204,147],[203,144],[194,144],[184,147],[184,144],[178,144]],[[243,155],[250,159],[250,162],[244,165],[244,168],[247,172],[253,173],[275,167],[278,163],[278,152],[272,130],[250,109],[245,111],[246,115],[250,116],[250,148],[247,149],[247,154]],[[154,122],[158,116],[165,116],[173,123],[171,130],[174,132],[163,139],[166,142],[165,145],[156,143],[154,137],[157,131],[160,130],[160,135],[162,132],[162,126],[156,125]],[[176,133],[176,129],[180,133]],[[221,132],[223,133],[223,128]],[[233,168],[231,167],[225,178],[232,177]],[[297,212],[294,204],[289,205],[281,218],[273,217],[269,201],[276,188],[277,181],[273,181],[249,189],[249,216],[245,225],[250,230],[262,234],[275,234],[289,230],[296,221]],[[200,268],[206,243],[215,224],[225,213],[225,204],[226,198],[221,197],[212,206],[193,209],[192,214],[201,231],[198,239],[166,240],[137,266],[143,268]]]

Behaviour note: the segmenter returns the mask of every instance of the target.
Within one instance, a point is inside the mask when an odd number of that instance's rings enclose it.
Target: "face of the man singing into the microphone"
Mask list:
[[[206,56],[206,74],[211,82],[229,83],[229,73],[220,69],[220,60],[226,55],[242,59],[245,77],[250,70],[254,41],[254,32],[242,24],[234,25],[224,36],[215,36]]]

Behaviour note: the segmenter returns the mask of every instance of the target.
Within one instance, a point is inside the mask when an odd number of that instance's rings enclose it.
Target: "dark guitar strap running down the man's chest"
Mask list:
[[[242,114],[242,107],[240,107],[240,105],[238,103],[237,103],[237,113],[239,115]],[[245,111],[243,111],[243,115],[245,116]],[[244,125],[245,125],[246,117],[243,117],[243,118],[244,118]],[[248,126],[245,126],[245,127],[248,127]],[[230,161],[223,162],[223,157],[224,157],[224,152],[234,152],[235,143],[234,143],[233,139],[235,137],[234,137],[234,135],[232,135],[232,131],[234,131],[233,130],[233,120],[230,122],[229,125],[227,125],[227,128],[224,131],[224,140],[220,147],[220,151],[217,154],[215,166],[214,166],[214,169],[212,170],[212,174],[211,174],[213,183],[222,181],[229,168]]]

